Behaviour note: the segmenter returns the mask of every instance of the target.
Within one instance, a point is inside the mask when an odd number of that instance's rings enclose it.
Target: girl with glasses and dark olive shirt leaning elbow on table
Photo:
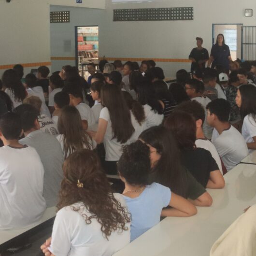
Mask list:
[[[181,165],[180,152],[171,132],[163,126],[143,131],[139,140],[150,149],[149,181],[169,187],[172,192],[197,206],[211,206],[213,199],[194,176]]]

